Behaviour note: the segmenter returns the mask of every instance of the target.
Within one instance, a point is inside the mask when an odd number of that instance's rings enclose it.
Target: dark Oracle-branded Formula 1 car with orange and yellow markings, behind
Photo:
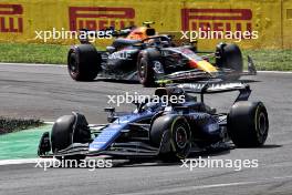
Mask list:
[[[116,39],[105,51],[97,51],[87,40],[81,40],[82,44],[73,45],[67,54],[71,78],[92,81],[100,74],[153,86],[159,80],[237,80],[257,73],[251,58],[248,58],[249,72],[243,72],[242,54],[236,44],[219,43],[215,52],[201,53],[194,44],[176,45],[170,35],[157,35],[149,24],[112,30]]]

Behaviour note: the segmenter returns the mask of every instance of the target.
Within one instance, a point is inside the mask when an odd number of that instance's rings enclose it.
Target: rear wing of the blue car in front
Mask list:
[[[239,91],[239,95],[236,99],[238,101],[247,101],[250,96],[250,85],[246,83],[181,83],[177,84],[177,88],[182,89],[186,93],[197,93],[201,95],[204,102],[204,94],[225,93]]]

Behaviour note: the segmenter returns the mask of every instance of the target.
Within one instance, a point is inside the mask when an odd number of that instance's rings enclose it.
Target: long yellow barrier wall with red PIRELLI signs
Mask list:
[[[79,41],[69,39],[67,31],[143,21],[155,21],[157,32],[173,32],[176,39],[197,39],[202,50],[221,41],[252,49],[292,48],[292,0],[4,0],[0,42],[73,44]]]

